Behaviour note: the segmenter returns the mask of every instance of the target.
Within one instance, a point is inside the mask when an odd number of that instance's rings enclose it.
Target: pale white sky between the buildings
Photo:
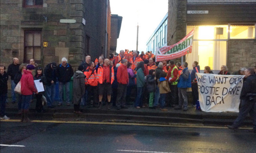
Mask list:
[[[137,25],[139,25],[138,50],[146,51],[146,43],[168,12],[168,0],[110,0],[111,14],[122,16],[116,53],[136,50]]]

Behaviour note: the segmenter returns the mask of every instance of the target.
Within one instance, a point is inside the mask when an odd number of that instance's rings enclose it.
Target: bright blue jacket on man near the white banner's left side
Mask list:
[[[178,88],[190,88],[191,87],[191,77],[188,72],[188,67],[182,70],[183,74],[180,75],[178,81]]]

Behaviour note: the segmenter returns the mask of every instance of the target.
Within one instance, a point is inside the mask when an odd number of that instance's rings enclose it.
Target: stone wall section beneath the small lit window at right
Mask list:
[[[256,40],[229,40],[227,56],[227,66],[230,72],[238,71],[242,67],[256,66]]]

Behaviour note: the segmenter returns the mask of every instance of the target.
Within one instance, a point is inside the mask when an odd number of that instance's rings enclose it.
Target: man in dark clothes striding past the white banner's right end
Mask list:
[[[254,70],[251,68],[247,68],[244,71],[244,75],[246,80],[243,83],[243,87],[241,90],[241,108],[239,109],[239,115],[232,125],[227,125],[230,129],[237,129],[243,121],[245,120],[248,112],[253,119],[253,131],[256,133],[256,76],[254,75]]]

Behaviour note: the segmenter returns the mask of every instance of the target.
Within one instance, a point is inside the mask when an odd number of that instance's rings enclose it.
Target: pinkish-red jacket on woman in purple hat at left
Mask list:
[[[22,75],[20,81],[22,95],[32,95],[33,92],[37,91],[34,86],[34,78],[32,76],[32,72],[24,70],[24,74]]]

